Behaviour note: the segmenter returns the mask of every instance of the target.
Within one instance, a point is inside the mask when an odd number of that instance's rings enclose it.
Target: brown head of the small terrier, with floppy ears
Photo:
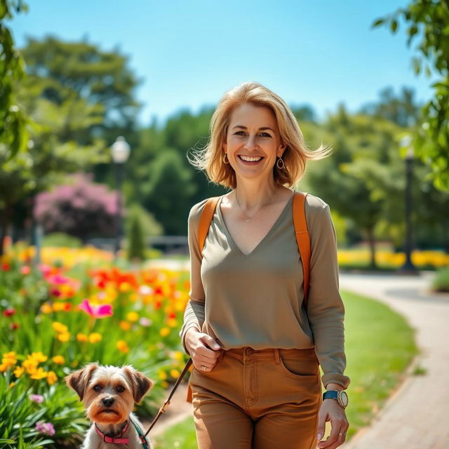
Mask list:
[[[126,365],[100,366],[89,363],[81,370],[65,377],[83,401],[89,420],[99,424],[119,424],[125,421],[153,382]]]

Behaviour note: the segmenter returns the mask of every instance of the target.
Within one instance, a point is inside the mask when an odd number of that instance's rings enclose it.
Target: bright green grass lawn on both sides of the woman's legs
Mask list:
[[[404,378],[417,354],[414,331],[401,315],[368,297],[342,290],[349,406],[347,441],[366,426]],[[196,449],[192,417],[175,424],[160,438],[158,449]]]

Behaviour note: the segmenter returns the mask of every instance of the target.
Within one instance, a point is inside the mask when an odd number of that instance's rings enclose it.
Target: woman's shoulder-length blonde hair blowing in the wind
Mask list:
[[[285,166],[279,169],[274,164],[274,182],[278,186],[293,187],[302,177],[308,160],[323,159],[330,155],[332,149],[321,145],[311,151],[304,142],[300,126],[290,107],[279,95],[255,81],[241,83],[225,93],[210,119],[210,138],[204,149],[194,150],[194,159],[187,159],[195,168],[206,170],[208,178],[228,188],[236,188],[236,174],[229,163],[223,161],[225,152],[223,142],[231,114],[235,107],[250,103],[269,107],[276,117],[281,135],[281,142],[286,145],[282,159]]]

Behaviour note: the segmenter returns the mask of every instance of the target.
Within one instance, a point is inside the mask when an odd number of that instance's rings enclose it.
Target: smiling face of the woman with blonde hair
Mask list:
[[[281,157],[285,149],[272,110],[250,103],[237,106],[223,149],[236,177],[272,176],[276,157]]]

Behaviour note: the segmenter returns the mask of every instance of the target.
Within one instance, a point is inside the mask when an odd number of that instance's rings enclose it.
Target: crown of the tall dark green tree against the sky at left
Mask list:
[[[93,136],[114,142],[117,135],[135,129],[140,105],[134,91],[140,80],[117,49],[101,51],[87,41],[65,42],[46,36],[42,41],[28,38],[22,53],[30,82],[43,85],[40,98],[58,106],[67,100],[83,100],[100,113],[101,120],[90,123],[83,133],[69,133],[67,139],[76,137],[81,145]]]

